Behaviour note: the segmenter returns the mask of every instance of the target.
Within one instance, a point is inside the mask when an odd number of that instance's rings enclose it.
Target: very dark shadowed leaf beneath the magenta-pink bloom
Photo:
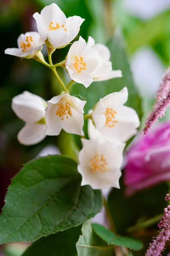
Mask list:
[[[122,174],[124,175],[123,171]],[[161,198],[164,198],[168,190],[167,183],[164,182],[127,198],[123,178],[122,176],[119,180],[121,189],[112,189],[108,196],[108,207],[116,230],[121,235],[125,235],[129,227],[161,214],[166,207],[166,201]]]

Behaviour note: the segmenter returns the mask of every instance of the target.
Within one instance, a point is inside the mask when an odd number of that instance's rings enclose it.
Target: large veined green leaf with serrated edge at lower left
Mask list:
[[[27,163],[12,179],[0,216],[0,244],[34,241],[84,223],[102,207],[99,190],[80,186],[77,163],[62,155]]]

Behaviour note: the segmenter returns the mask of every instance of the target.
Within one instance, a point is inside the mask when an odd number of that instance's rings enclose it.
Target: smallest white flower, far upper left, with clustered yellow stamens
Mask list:
[[[8,48],[6,54],[21,58],[32,58],[42,49],[42,39],[37,32],[21,34],[17,39],[18,48]]]

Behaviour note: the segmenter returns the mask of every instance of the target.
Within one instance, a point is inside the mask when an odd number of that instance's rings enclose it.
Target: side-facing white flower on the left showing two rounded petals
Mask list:
[[[34,145],[45,138],[45,108],[47,103],[41,97],[27,91],[12,99],[12,110],[26,122],[18,133],[21,144]]]

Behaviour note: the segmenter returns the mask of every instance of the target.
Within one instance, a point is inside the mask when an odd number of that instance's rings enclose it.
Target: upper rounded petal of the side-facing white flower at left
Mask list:
[[[39,96],[27,91],[12,99],[12,110],[23,121],[35,123],[45,116],[46,102]]]

